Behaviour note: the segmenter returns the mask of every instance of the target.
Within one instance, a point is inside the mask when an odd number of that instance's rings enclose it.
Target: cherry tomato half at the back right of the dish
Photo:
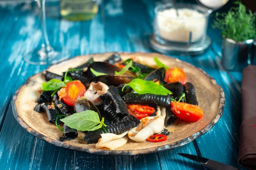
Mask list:
[[[164,81],[167,83],[180,82],[181,84],[186,84],[186,74],[181,68],[169,68],[165,72]]]

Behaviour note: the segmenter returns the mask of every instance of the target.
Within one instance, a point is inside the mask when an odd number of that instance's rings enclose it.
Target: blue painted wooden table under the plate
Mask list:
[[[47,1],[47,31],[52,45],[66,46],[71,57],[106,52],[155,52],[150,48],[153,9],[160,0],[102,0],[90,21],[72,22],[59,15],[58,2]],[[229,3],[230,4],[230,3]],[[214,13],[211,15],[210,23]],[[200,170],[177,153],[202,155],[238,166],[242,72],[220,64],[221,35],[209,24],[212,39],[200,55],[170,55],[202,68],[225,92],[224,113],[206,134],[184,146],[134,156],[94,155],[54,146],[24,130],[13,116],[11,101],[26,79],[49,65],[32,65],[22,55],[40,45],[42,32],[35,2],[0,1],[0,169],[1,170]]]

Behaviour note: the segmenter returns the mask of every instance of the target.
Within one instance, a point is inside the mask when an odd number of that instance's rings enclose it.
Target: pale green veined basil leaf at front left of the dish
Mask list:
[[[61,121],[70,128],[82,131],[93,131],[106,126],[104,124],[104,117],[100,121],[98,113],[93,110],[74,113],[61,119]]]

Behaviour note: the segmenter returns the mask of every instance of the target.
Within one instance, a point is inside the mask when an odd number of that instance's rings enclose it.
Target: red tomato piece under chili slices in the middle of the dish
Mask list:
[[[141,118],[143,118],[143,117],[147,117],[148,115],[152,114],[151,113],[152,111],[146,112],[145,110],[144,110],[145,111],[144,113],[142,111],[141,112],[137,112],[136,110],[137,110],[138,107],[139,108],[144,107],[144,105],[141,105],[141,104],[126,104],[126,107],[127,107],[127,110],[129,112],[129,114],[133,115],[134,117],[136,117],[139,120]],[[138,108],[138,110],[140,110],[139,108]],[[153,109],[154,109],[154,111],[153,111],[153,113],[154,113],[155,112],[155,108],[153,108]]]

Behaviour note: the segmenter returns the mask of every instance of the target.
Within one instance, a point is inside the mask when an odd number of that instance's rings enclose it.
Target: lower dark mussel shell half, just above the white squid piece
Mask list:
[[[91,82],[103,82],[108,86],[119,86],[119,84],[126,84],[132,81],[135,77],[128,75],[100,75],[91,79]]]

